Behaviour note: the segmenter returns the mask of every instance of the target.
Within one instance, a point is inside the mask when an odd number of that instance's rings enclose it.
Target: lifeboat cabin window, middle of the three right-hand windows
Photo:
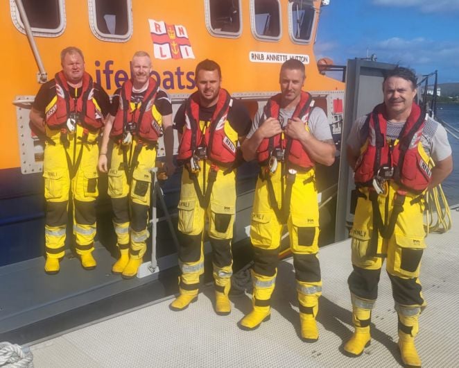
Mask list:
[[[281,33],[281,4],[279,0],[250,0],[252,34],[259,40],[277,41]]]

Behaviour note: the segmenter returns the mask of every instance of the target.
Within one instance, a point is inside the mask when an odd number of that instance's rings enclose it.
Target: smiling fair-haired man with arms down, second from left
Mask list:
[[[146,251],[151,169],[155,167],[157,140],[163,131],[166,173],[175,171],[171,100],[150,77],[151,67],[148,53],[137,51],[132,57],[132,79],[114,94],[98,161],[98,169],[107,172],[111,137],[108,194],[112,198],[113,225],[121,254],[112,272],[123,278],[137,275]]]

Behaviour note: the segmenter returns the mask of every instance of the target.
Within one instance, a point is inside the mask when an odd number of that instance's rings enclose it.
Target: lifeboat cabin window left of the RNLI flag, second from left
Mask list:
[[[103,41],[125,42],[132,36],[131,0],[88,0],[89,24]]]

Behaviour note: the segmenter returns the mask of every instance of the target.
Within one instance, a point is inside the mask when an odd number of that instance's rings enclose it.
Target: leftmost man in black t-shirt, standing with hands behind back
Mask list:
[[[60,53],[62,71],[40,88],[31,110],[31,123],[46,136],[43,176],[46,199],[47,274],[57,274],[64,257],[69,190],[73,201],[76,253],[84,269],[96,260],[97,137],[110,99],[85,72],[83,53],[67,47]]]

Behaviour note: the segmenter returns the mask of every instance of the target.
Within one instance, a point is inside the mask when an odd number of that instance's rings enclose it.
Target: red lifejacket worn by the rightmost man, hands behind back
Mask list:
[[[370,186],[378,170],[383,166],[393,167],[393,180],[411,192],[423,192],[431,181],[431,170],[418,150],[425,114],[413,103],[410,116],[399,135],[399,143],[391,147],[386,139],[386,107],[376,106],[368,115],[367,149],[356,162],[354,179],[356,185]]]

